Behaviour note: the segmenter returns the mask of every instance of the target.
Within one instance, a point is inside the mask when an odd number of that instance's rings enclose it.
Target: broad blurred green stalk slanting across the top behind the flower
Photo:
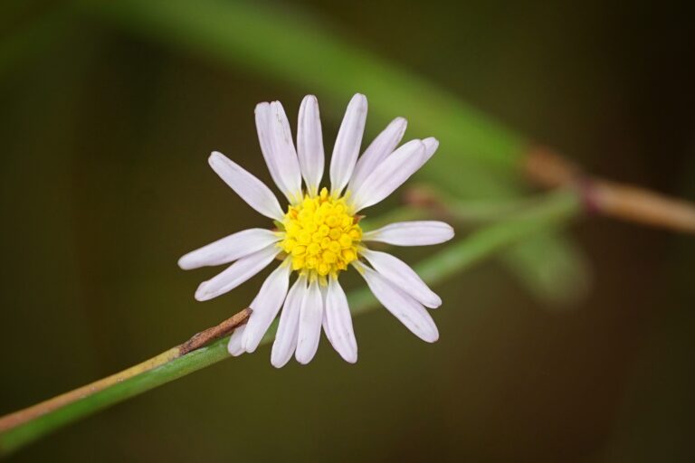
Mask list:
[[[76,5],[157,42],[317,92],[321,100],[328,99],[327,109],[344,108],[353,93],[365,93],[370,123],[383,127],[395,115],[416,115],[410,129],[420,137],[445,140],[455,149],[447,156],[458,162],[475,159],[502,171],[516,171],[528,145],[525,137],[413,72],[342,40],[328,30],[330,24],[319,23],[297,7],[217,0],[199,0],[195,5],[188,0],[78,0]],[[447,167],[434,169],[440,178],[443,173],[451,178]],[[490,175],[481,180],[472,173],[455,174],[457,182],[466,175],[472,184],[501,184]]]

